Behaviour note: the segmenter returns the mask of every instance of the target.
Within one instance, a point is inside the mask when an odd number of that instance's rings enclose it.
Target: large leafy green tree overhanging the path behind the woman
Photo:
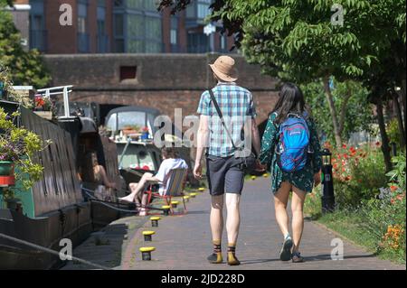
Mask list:
[[[161,8],[172,5],[175,13],[189,2],[164,0]],[[331,21],[334,4],[344,8],[344,25]],[[337,145],[342,143],[341,115],[347,106],[336,107],[330,77],[371,79],[386,67],[385,55],[395,59],[397,70],[405,70],[402,0],[217,0],[212,7],[212,19],[222,20],[246,59],[259,63],[267,74],[303,84],[323,80]],[[393,80],[404,83],[405,91],[405,72]],[[371,83],[364,84],[373,89]]]

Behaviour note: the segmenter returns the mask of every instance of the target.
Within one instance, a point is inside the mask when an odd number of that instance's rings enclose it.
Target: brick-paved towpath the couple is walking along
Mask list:
[[[200,270],[200,269],[405,269],[390,261],[380,260],[363,248],[344,241],[345,259],[331,260],[331,241],[337,236],[314,223],[306,222],[301,252],[306,263],[292,264],[279,261],[282,237],[277,226],[269,192],[269,179],[247,181],[241,201],[241,234],[237,246],[240,266],[211,265],[206,256],[211,253],[207,193],[200,194],[188,203],[185,216],[166,217],[156,235],[146,245],[141,231],[152,229],[149,222],[128,239],[122,251],[122,269]],[[223,237],[223,251],[227,240]],[[153,260],[141,261],[140,246],[155,246]]]

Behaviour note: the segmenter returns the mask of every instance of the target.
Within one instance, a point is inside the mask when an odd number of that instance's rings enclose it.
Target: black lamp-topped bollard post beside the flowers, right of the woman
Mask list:
[[[332,153],[322,151],[322,212],[332,212],[335,209],[334,179],[332,176]]]

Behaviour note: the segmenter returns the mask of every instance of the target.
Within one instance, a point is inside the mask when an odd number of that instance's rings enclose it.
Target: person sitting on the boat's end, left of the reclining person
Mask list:
[[[90,168],[90,166],[92,168]],[[96,152],[90,151],[85,155],[85,164],[81,166],[80,181],[96,184],[95,197],[106,200],[106,188],[116,189],[116,183],[109,181],[105,167],[99,165]],[[109,198],[109,197],[108,197]]]

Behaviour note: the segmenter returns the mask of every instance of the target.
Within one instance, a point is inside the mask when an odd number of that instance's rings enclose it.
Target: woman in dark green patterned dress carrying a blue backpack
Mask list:
[[[316,126],[301,89],[285,83],[270,114],[260,152],[260,163],[270,167],[276,218],[284,236],[279,253],[281,261],[304,262],[299,253],[304,228],[303,207],[307,193],[321,181],[320,150]],[[290,191],[292,237],[287,212]]]

